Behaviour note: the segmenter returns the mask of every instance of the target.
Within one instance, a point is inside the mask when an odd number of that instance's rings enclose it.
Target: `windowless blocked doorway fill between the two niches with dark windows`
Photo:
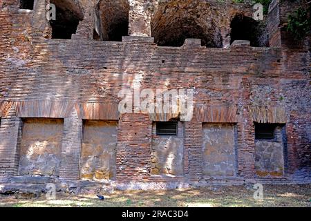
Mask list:
[[[235,175],[233,124],[203,124],[203,173],[205,176]]]

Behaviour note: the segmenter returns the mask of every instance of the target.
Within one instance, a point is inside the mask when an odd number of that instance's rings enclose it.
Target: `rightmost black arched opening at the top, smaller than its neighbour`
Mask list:
[[[250,46],[265,46],[263,42],[261,42],[262,32],[260,23],[251,17],[236,15],[231,21],[230,28],[230,44],[232,44],[235,40],[247,40],[250,41]]]

